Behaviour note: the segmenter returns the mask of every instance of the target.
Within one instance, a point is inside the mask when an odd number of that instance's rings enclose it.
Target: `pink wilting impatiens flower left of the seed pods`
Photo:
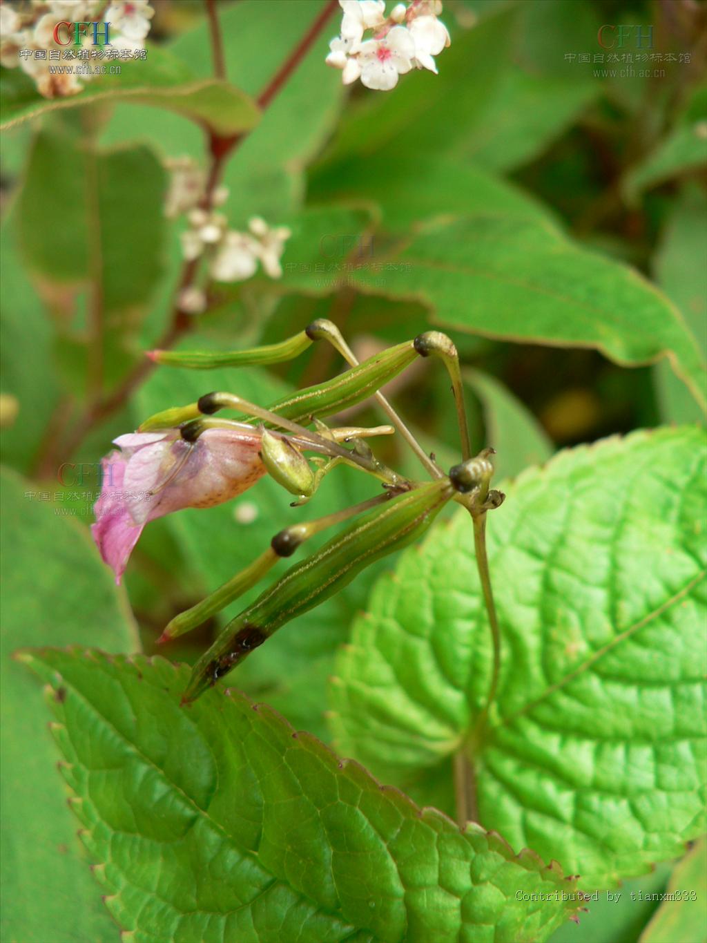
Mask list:
[[[206,429],[195,442],[177,429],[115,439],[120,452],[103,459],[103,485],[90,531],[120,584],[142,528],[184,507],[235,498],[265,474],[255,430]]]

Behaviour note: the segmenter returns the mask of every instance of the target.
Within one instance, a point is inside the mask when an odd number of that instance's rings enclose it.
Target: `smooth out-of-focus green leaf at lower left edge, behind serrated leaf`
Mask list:
[[[88,533],[42,491],[2,472],[2,935],[117,943],[65,790],[51,776],[56,753],[36,685],[12,655],[24,645],[72,642],[134,650],[137,634]]]

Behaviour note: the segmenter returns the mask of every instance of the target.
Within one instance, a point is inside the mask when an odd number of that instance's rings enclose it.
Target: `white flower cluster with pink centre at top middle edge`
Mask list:
[[[341,69],[344,85],[357,78],[368,89],[388,91],[398,75],[411,69],[437,73],[435,56],[450,44],[437,16],[441,0],[397,4],[386,17],[385,0],[338,0],[344,15],[341,33],[329,43],[327,65]],[[367,30],[372,37],[364,40]]]

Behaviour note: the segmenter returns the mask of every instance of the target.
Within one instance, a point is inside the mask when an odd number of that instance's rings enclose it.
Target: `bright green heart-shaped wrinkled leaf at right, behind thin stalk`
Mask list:
[[[375,588],[332,683],[337,744],[404,786],[469,750],[478,820],[611,886],[680,853],[704,813],[705,437],[570,450],[489,517],[501,684],[469,517]]]

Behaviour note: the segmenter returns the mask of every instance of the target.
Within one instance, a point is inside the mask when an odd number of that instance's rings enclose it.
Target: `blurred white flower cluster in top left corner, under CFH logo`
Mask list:
[[[0,64],[8,69],[20,66],[32,76],[45,98],[73,95],[81,91],[81,83],[91,76],[88,71],[81,74],[75,70],[54,74],[50,71],[53,63],[46,54],[67,48],[54,39],[58,23],[90,23],[100,16],[99,35],[103,34],[103,24],[110,24],[109,48],[134,52],[150,32],[154,14],[148,0],[113,0],[107,8],[103,0],[31,0],[19,7],[11,7],[4,0],[0,5]],[[90,42],[89,35],[82,48]],[[28,49],[31,55],[21,57],[23,49]],[[35,53],[44,53],[44,58]]]

